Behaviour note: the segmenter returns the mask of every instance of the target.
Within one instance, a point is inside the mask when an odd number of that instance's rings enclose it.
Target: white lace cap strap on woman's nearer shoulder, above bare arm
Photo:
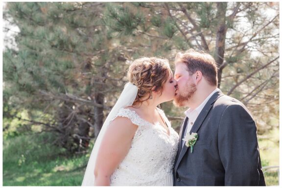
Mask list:
[[[118,114],[112,120],[117,117],[129,118],[133,124],[136,124],[138,126],[150,125],[149,122],[142,119],[135,111],[128,108],[119,109]]]

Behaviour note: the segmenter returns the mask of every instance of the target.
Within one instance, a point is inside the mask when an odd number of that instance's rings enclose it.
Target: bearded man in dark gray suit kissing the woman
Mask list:
[[[174,77],[174,103],[189,107],[180,129],[174,186],[265,186],[256,123],[240,101],[217,88],[212,56],[193,49],[178,53]]]

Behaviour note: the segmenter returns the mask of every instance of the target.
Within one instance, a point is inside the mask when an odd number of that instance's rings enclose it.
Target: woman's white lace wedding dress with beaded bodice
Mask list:
[[[179,136],[164,112],[158,111],[169,134],[162,125],[154,125],[128,108],[121,108],[113,118],[129,118],[138,129],[128,154],[111,176],[111,186],[173,186],[172,170]]]

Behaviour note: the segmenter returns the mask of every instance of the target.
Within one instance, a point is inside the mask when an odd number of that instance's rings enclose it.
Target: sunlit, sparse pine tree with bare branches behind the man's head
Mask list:
[[[218,64],[218,87],[251,109],[262,133],[269,125],[269,118],[263,116],[265,108],[270,110],[274,105],[272,118],[278,117],[278,5],[126,2],[109,8],[107,15],[111,20],[107,24],[121,35],[143,38],[140,45],[147,44],[151,49],[148,54],[163,54],[171,62],[177,51],[188,48],[209,52]],[[123,22],[126,20],[135,23],[134,27]],[[261,108],[265,103],[268,105]],[[172,114],[175,111],[178,110],[170,110]]]

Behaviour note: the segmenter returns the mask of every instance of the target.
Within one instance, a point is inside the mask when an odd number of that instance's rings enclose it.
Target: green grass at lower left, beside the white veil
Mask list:
[[[43,144],[49,137],[20,136],[4,141],[3,186],[81,185],[88,157],[68,157],[66,151]]]

